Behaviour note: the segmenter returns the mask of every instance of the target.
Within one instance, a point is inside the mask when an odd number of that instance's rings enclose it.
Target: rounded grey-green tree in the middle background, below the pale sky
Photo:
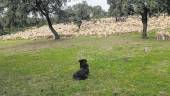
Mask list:
[[[107,16],[107,12],[105,12],[101,6],[92,7],[89,6],[86,1],[74,6],[69,6],[65,12],[65,14],[67,14],[66,16],[69,18],[67,21],[74,21],[78,28],[81,27],[82,20],[90,20],[91,18],[99,19]]]

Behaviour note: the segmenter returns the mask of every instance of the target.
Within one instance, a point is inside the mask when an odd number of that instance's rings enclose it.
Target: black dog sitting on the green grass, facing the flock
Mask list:
[[[73,79],[75,80],[85,80],[89,75],[89,65],[86,59],[79,60],[80,70],[73,74]]]

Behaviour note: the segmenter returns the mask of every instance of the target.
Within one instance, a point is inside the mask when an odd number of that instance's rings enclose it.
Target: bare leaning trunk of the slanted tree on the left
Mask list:
[[[51,23],[51,20],[50,20],[49,15],[46,14],[45,17],[46,17],[46,19],[47,19],[48,26],[49,26],[51,32],[54,34],[55,40],[60,39],[59,34],[55,31],[55,29],[54,29],[53,26],[52,26],[52,23]]]

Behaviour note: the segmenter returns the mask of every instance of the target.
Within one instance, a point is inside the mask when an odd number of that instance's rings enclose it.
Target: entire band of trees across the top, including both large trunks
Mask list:
[[[170,15],[170,0],[107,0],[109,11],[101,6],[89,6],[86,1],[74,6],[65,6],[68,0],[0,0],[0,35],[16,28],[48,24],[55,39],[60,35],[53,23],[74,22],[79,28],[82,20],[115,17],[116,21],[130,15],[141,16],[143,38],[148,38],[149,17]],[[97,1],[96,1],[97,2]]]

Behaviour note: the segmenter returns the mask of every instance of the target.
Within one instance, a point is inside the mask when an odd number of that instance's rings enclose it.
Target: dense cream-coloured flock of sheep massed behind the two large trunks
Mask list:
[[[149,29],[166,29],[170,26],[170,17],[160,16],[159,18],[153,17],[149,19]],[[141,32],[142,23],[140,18],[130,17],[126,22],[115,22],[113,18],[102,18],[100,20],[84,21],[81,29],[78,30],[77,26],[70,24],[54,25],[54,28],[59,32],[62,37],[80,36],[80,35],[97,35],[108,36],[112,34],[121,34],[129,32]],[[15,39],[38,39],[50,38],[52,33],[48,26],[40,28],[33,27],[25,30],[24,32],[17,32],[16,34],[9,34],[0,36],[2,40],[15,40]]]

